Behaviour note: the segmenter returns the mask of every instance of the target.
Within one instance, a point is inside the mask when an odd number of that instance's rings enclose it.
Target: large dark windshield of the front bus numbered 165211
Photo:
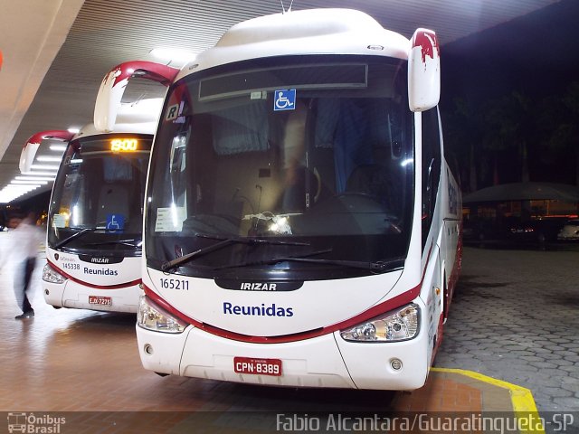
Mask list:
[[[406,95],[406,61],[384,57],[276,57],[177,81],[151,159],[147,265],[326,279],[400,263],[414,188]]]

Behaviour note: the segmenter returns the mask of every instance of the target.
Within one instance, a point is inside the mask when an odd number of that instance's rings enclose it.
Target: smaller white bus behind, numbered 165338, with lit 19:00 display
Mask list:
[[[43,131],[24,146],[28,171],[43,139],[65,140],[52,187],[43,295],[53,307],[137,312],[147,166],[162,99],[119,104],[112,131]]]

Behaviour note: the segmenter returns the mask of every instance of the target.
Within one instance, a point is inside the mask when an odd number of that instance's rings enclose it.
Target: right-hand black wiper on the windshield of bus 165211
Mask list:
[[[269,265],[277,264],[279,262],[308,262],[313,264],[327,264],[327,265],[337,265],[339,267],[349,267],[353,269],[365,269],[372,271],[373,273],[384,273],[386,271],[392,271],[394,269],[401,269],[404,265],[404,259],[392,259],[392,260],[377,260],[375,262],[368,262],[365,260],[345,260],[345,259],[316,259],[308,258],[309,256],[318,255],[320,253],[327,253],[330,250],[319,250],[309,253],[304,256],[288,256],[280,258],[271,258],[257,260],[253,262],[244,262],[242,264],[233,264],[220,267],[219,269],[233,269],[237,267],[248,267],[252,265]]]

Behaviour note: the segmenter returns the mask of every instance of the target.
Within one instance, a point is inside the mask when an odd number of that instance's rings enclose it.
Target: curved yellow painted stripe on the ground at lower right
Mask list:
[[[458,373],[481,382],[487,382],[503,389],[508,389],[510,392],[510,401],[513,403],[513,410],[515,411],[517,418],[524,416],[527,420],[533,420],[534,422],[529,424],[530,426],[528,426],[528,429],[523,429],[521,432],[545,434],[545,427],[539,418],[538,410],[536,410],[533,393],[527,388],[517,386],[517,384],[512,384],[510,382],[503,382],[502,380],[497,380],[496,378],[489,377],[482,373],[475,373],[464,369],[431,368],[431,371],[435,373]]]

